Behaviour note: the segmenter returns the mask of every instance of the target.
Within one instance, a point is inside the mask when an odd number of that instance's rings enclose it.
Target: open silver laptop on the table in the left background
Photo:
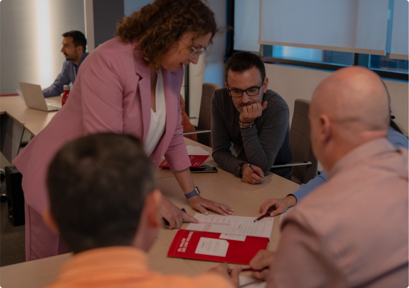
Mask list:
[[[61,103],[58,101],[44,98],[40,85],[19,83],[27,107],[46,112],[57,111],[61,108]]]

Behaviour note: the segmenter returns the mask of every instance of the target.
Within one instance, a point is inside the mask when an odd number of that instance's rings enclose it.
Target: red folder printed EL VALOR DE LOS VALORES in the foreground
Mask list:
[[[173,239],[168,256],[248,265],[258,250],[267,248],[268,238],[245,236],[245,241],[239,241],[220,238],[220,235],[180,229]]]

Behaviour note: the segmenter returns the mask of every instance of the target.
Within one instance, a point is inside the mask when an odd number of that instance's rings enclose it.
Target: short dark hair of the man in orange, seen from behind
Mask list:
[[[49,165],[51,214],[65,244],[78,253],[130,246],[155,166],[130,135],[103,133],[66,144]]]

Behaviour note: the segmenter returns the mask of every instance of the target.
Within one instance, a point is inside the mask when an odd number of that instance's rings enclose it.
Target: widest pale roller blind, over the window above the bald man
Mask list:
[[[258,43],[385,55],[388,7],[389,0],[260,0]]]

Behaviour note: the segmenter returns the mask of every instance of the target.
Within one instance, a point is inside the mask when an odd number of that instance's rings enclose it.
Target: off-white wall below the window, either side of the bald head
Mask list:
[[[265,64],[269,80],[268,88],[279,93],[290,107],[290,121],[294,111],[294,100],[303,98],[311,100],[315,87],[330,76],[331,71],[300,68],[290,65]],[[408,132],[408,83],[404,81],[385,80],[391,96],[392,115],[395,122]]]

